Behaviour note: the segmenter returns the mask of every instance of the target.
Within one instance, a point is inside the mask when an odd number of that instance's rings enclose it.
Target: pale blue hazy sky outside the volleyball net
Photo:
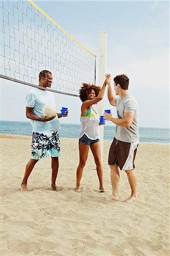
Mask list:
[[[97,55],[99,35],[107,34],[106,73],[125,73],[139,104],[140,127],[169,127],[169,2],[165,1],[34,1],[56,23]],[[1,119],[28,121],[25,97],[30,86],[5,79],[1,84]],[[57,112],[68,107],[61,123],[80,123],[78,97],[55,93]],[[109,105],[105,94],[105,109]],[[107,125],[111,123],[107,122]]]

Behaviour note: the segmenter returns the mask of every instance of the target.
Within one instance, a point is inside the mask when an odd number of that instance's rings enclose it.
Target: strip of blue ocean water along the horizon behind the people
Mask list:
[[[0,133],[31,135],[30,122],[0,121]],[[77,138],[80,133],[80,125],[61,123],[60,137]],[[104,140],[112,141],[115,134],[114,126],[105,125]],[[139,127],[141,143],[169,144],[169,129]]]

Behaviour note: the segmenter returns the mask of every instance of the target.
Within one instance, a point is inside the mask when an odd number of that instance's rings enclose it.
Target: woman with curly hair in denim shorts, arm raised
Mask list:
[[[103,167],[101,163],[101,150],[99,143],[99,116],[93,109],[93,104],[101,101],[106,88],[106,80],[101,87],[90,84],[82,84],[80,88],[81,106],[81,132],[79,139],[80,162],[77,167],[76,192],[80,192],[80,180],[82,171],[88,158],[89,147],[92,150],[94,161],[97,167],[99,189],[105,192],[103,187]]]

